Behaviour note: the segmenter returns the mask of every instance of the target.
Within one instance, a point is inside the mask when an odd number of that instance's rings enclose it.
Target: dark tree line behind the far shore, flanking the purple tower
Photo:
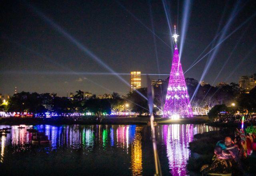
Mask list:
[[[168,78],[160,86],[154,87],[155,98],[154,104],[160,109],[163,108],[166,92],[168,88]],[[232,103],[236,104],[237,108],[248,109],[250,112],[255,112],[256,109],[256,96],[255,89],[252,89],[249,94],[240,90],[236,83],[230,83],[220,87],[214,87],[209,84],[199,86],[196,94],[198,81],[193,78],[186,78],[186,86],[188,89],[189,97],[192,106],[200,106],[205,109],[211,109],[215,105],[226,104],[230,106]],[[140,94],[147,96],[147,88],[138,89]],[[118,93],[113,92],[111,98],[100,99],[96,95],[90,98],[84,98],[84,92],[81,90],[76,91],[73,99],[68,97],[59,97],[57,94],[37,92],[20,92],[11,96],[8,104],[2,104],[0,108],[6,112],[32,112],[32,113],[73,113],[73,112],[92,112],[96,116],[101,116],[103,113],[110,114],[111,111],[123,112],[130,110],[143,114],[148,112],[148,102],[136,91],[129,92],[125,96],[120,96]],[[129,107],[125,105],[129,104]],[[156,112],[158,108],[154,108]]]

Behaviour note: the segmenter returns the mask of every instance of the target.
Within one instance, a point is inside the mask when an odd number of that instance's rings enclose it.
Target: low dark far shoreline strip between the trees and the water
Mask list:
[[[0,125],[95,125],[95,124],[116,124],[116,125],[147,125],[150,121],[149,117],[114,117],[102,118],[102,120],[84,119],[63,119],[63,118],[0,118]],[[166,118],[155,118],[157,124],[208,124],[211,121],[208,117],[182,118],[177,120]]]

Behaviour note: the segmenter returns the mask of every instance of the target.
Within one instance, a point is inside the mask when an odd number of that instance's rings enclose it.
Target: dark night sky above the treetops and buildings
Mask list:
[[[18,87],[18,92],[55,92],[59,96],[66,96],[67,91],[76,90],[90,91],[93,94],[110,91],[128,93],[129,87],[116,76],[77,74],[109,71],[78,48],[70,38],[56,30],[46,18],[59,25],[66,34],[80,42],[115,72],[140,70],[144,74],[158,74],[154,37],[150,32],[152,16],[155,34],[162,40],[156,37],[159,72],[169,74],[173,42],[164,6],[161,0],[149,2],[1,1],[0,93],[12,95],[15,86]],[[256,12],[255,0],[239,2],[238,14],[232,16],[234,20],[228,26],[224,37]],[[171,25],[176,24],[177,32],[181,35],[184,1],[167,1],[166,4]],[[214,39],[218,28],[219,32],[223,29],[235,4],[236,1],[232,0],[192,1],[181,58],[184,72]],[[43,19],[43,15],[46,18]],[[209,84],[214,82],[239,40],[237,48],[214,84],[225,80],[238,82],[239,76],[255,73],[255,29],[256,16],[227,38],[220,45],[203,80]],[[217,42],[218,38],[202,56]],[[209,61],[210,58],[206,56],[186,72],[185,77],[200,80]],[[233,71],[234,68],[237,69]],[[232,71],[234,74],[230,75]],[[129,75],[121,76],[129,82]],[[167,77],[151,76],[152,79]],[[146,76],[142,76],[142,86],[146,86]]]

